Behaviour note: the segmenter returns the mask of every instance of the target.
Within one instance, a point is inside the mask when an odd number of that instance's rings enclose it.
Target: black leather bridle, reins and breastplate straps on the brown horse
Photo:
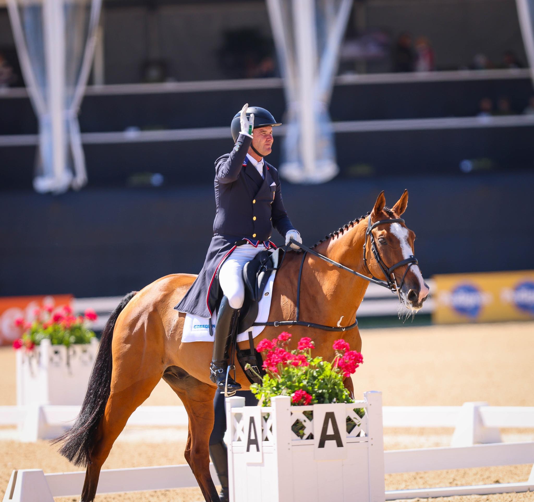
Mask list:
[[[325,255],[321,255],[320,253],[317,253],[317,251],[309,248],[308,246],[304,246],[300,242],[297,242],[296,240],[294,240],[293,237],[290,238],[289,244],[287,246],[280,248],[283,250],[284,255],[282,256],[280,264],[276,270],[278,270],[280,266],[282,265],[282,263],[284,262],[284,258],[286,256],[287,250],[289,249],[289,246],[291,244],[294,244],[295,246],[300,247],[304,251],[302,255],[301,266],[299,269],[299,281],[297,283],[296,319],[293,321],[270,321],[270,322],[265,322],[265,323],[253,323],[253,326],[277,326],[277,327],[278,326],[306,326],[308,328],[317,328],[318,330],[325,330],[325,331],[345,331],[345,330],[352,330],[352,328],[355,328],[358,325],[358,319],[355,319],[354,323],[352,323],[350,326],[343,326],[343,327],[326,326],[324,324],[308,323],[307,321],[300,320],[300,289],[301,289],[301,279],[302,279],[302,268],[304,266],[306,255],[308,253],[310,253],[313,256],[317,256],[321,260],[324,260],[325,262],[330,263],[331,265],[334,265],[341,270],[345,270],[347,272],[354,274],[357,277],[365,279],[366,281],[369,281],[370,283],[378,284],[379,286],[388,288],[391,291],[391,293],[397,293],[399,300],[400,300],[400,288],[402,288],[402,285],[404,284],[404,279],[406,277],[406,274],[408,273],[408,270],[410,270],[410,267],[412,265],[418,264],[418,261],[417,261],[417,258],[415,258],[415,256],[411,255],[409,258],[405,258],[405,260],[401,260],[400,262],[395,263],[395,265],[392,265],[388,268],[386,263],[384,263],[384,261],[382,260],[380,253],[378,252],[378,247],[376,246],[376,242],[373,237],[373,229],[379,225],[385,225],[387,223],[404,223],[404,219],[403,218],[381,219],[378,222],[371,223],[371,216],[369,216],[369,223],[367,225],[367,231],[365,232],[365,241],[364,241],[363,251],[364,251],[365,268],[371,274],[371,277],[364,276],[364,274],[356,272],[356,270],[349,269],[347,266],[342,265],[341,263],[337,263],[336,261],[331,260]],[[374,277],[373,273],[369,270],[369,267],[367,265],[367,257],[366,257],[367,239],[370,239],[371,241],[371,251],[373,253],[374,259],[376,263],[380,266],[380,269],[382,270],[384,277],[386,277],[386,281],[383,281],[381,279]],[[397,280],[393,272],[394,270],[398,269],[399,266],[403,266],[403,265],[408,265],[408,266],[406,267],[404,275],[402,276],[402,279],[400,280],[400,284],[397,285]],[[393,280],[391,280],[391,276],[393,276]]]

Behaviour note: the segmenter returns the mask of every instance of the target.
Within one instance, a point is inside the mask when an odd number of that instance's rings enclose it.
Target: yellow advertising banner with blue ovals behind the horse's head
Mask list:
[[[534,270],[434,276],[435,323],[534,320]]]

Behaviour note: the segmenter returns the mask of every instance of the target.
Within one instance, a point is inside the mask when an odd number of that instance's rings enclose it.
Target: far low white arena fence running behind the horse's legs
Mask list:
[[[383,426],[397,428],[453,428],[451,446],[501,443],[500,428],[534,429],[534,406],[384,406]],[[80,406],[0,406],[0,426],[18,426],[22,442],[51,439],[57,428],[68,428]],[[187,427],[183,406],[140,406],[127,426]]]

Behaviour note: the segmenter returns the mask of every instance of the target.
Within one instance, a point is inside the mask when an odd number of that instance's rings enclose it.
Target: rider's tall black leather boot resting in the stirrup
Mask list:
[[[228,367],[228,347],[237,323],[239,309],[232,309],[226,296],[223,296],[221,306],[217,311],[217,325],[215,326],[215,340],[213,341],[213,356],[211,357],[210,376],[217,389],[224,392],[226,385],[226,369]],[[228,393],[240,390],[241,386],[228,375]]]

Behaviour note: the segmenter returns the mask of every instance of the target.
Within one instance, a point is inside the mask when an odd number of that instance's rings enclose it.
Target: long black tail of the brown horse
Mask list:
[[[53,443],[63,443],[59,452],[74,465],[87,466],[89,463],[89,454],[96,440],[97,427],[106,409],[111,389],[113,329],[117,317],[136,293],[136,291],[132,291],[124,296],[109,316],[102,331],[100,347],[91,371],[80,414],[72,428],[53,441]]]

